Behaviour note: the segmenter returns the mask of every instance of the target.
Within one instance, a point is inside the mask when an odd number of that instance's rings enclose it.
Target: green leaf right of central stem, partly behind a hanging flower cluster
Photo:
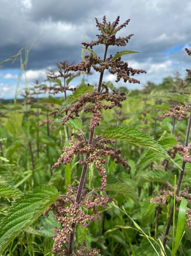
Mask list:
[[[94,189],[98,190],[101,187],[100,176],[97,176],[94,180]],[[137,201],[138,195],[134,189],[134,187],[128,183],[122,183],[115,175],[108,173],[107,174],[107,185],[105,191],[113,191],[116,193],[123,194],[127,197],[133,199],[133,201]]]

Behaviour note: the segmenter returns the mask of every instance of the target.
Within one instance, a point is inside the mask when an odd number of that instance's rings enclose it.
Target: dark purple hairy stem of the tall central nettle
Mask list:
[[[106,60],[107,49],[108,49],[108,46],[105,46],[105,53],[104,53],[103,62],[105,62],[105,60]],[[97,89],[97,92],[99,92],[99,93],[101,91],[103,73],[104,72],[100,73],[100,77],[99,77],[99,85],[98,85],[98,89]],[[90,132],[88,144],[92,145],[93,138],[94,138],[94,129]],[[89,153],[86,154],[85,161],[89,158],[89,155],[90,155]],[[84,167],[83,167],[83,170],[81,172],[80,183],[79,183],[78,191],[77,191],[77,195],[76,195],[76,202],[78,204],[81,201],[81,193],[82,193],[82,190],[83,190],[83,187],[84,187],[87,167],[88,167],[88,165],[85,164]],[[75,227],[76,227],[76,223],[73,223],[71,225],[72,232],[70,234],[70,238],[69,238],[69,242],[68,242],[68,254],[69,255],[72,254],[72,251],[73,251],[73,239],[74,239],[74,234],[75,234]]]

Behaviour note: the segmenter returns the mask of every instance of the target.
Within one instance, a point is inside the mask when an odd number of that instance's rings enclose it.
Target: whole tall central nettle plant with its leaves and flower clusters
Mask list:
[[[116,33],[126,27],[129,21],[128,19],[118,26],[119,16],[113,23],[107,22],[105,16],[102,23],[99,23],[96,19],[100,31],[100,35],[97,35],[98,39],[91,43],[82,43],[89,55],[86,55],[85,60],[79,64],[69,65],[64,69],[64,72],[67,73],[69,71],[90,72],[93,68],[99,73],[97,91],[94,90],[92,85],[81,84],[67,97],[58,112],[60,114],[67,106],[71,106],[67,110],[66,116],[56,119],[53,123],[53,125],[61,123],[66,127],[72,127],[76,129],[76,133],[73,133],[73,140],[69,140],[69,145],[63,147],[63,154],[52,166],[52,170],[62,164],[70,163],[73,159],[76,159],[76,155],[81,155],[79,164],[83,168],[79,183],[77,186],[71,186],[70,184],[65,195],[60,195],[54,186],[49,185],[41,185],[25,194],[12,186],[1,185],[1,196],[3,194],[4,197],[16,198],[0,222],[1,252],[5,251],[9,243],[18,234],[29,228],[42,213],[47,216],[52,210],[55,213],[55,219],[60,223],[60,226],[54,228],[55,236],[53,239],[55,244],[53,253],[57,253],[58,256],[93,256],[99,254],[99,249],[86,248],[85,241],[82,245],[78,243],[78,240],[75,241],[75,231],[77,225],[87,227],[90,221],[100,220],[99,207],[107,208],[107,203],[112,201],[105,191],[113,190],[127,194],[127,191],[131,193],[133,190],[133,188],[128,188],[128,184],[121,183],[114,175],[107,174],[105,164],[108,157],[117,164],[123,164],[124,167],[131,168],[128,162],[121,157],[121,151],[112,146],[116,139],[148,148],[180,168],[157,141],[135,127],[118,125],[108,127],[102,134],[94,135],[96,127],[100,126],[101,120],[104,119],[102,111],[109,111],[115,107],[121,108],[121,102],[126,100],[125,93],[117,93],[110,81],[102,81],[105,70],[117,75],[116,82],[123,78],[124,82],[128,81],[129,83],[139,83],[132,76],[146,73],[144,70],[129,67],[128,62],[121,60],[123,55],[133,54],[136,51],[120,51],[114,56],[109,55],[107,57],[109,46],[126,46],[128,43],[132,35],[117,38]],[[103,59],[92,50],[93,46],[99,44],[105,47]],[[90,116],[88,131],[84,130],[85,126],[80,118],[81,112]],[[94,164],[93,171],[97,173],[98,170],[99,175],[92,183],[92,187],[86,189],[85,179],[89,164]]]

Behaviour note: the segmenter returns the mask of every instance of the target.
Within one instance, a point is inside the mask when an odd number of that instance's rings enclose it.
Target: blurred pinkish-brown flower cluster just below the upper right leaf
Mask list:
[[[175,117],[178,121],[181,121],[183,118],[187,118],[187,106],[179,106],[175,105],[174,108],[170,108],[169,112],[166,114],[163,114],[159,116],[160,119],[166,118],[166,117]]]

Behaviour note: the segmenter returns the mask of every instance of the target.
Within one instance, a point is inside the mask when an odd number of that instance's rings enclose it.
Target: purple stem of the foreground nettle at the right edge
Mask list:
[[[185,140],[185,146],[186,147],[188,146],[188,141],[189,141],[189,137],[190,137],[190,128],[191,128],[191,113],[190,113],[190,117],[189,117],[189,121],[188,121],[188,127],[187,127],[187,132],[186,132],[186,140]],[[183,161],[182,162],[181,174],[180,174],[179,179],[178,179],[178,188],[176,190],[176,195],[178,195],[179,190],[181,188],[181,183],[182,183],[182,179],[183,179],[183,174],[184,174],[185,166],[186,166],[186,162]],[[166,247],[166,243],[167,243],[167,237],[166,236],[169,233],[170,225],[171,225],[171,222],[172,222],[172,219],[173,219],[173,213],[174,213],[174,208],[172,206],[171,210],[170,210],[170,216],[169,216],[169,219],[168,219],[167,227],[166,227],[165,238],[164,238],[164,241],[163,241],[164,248]]]

